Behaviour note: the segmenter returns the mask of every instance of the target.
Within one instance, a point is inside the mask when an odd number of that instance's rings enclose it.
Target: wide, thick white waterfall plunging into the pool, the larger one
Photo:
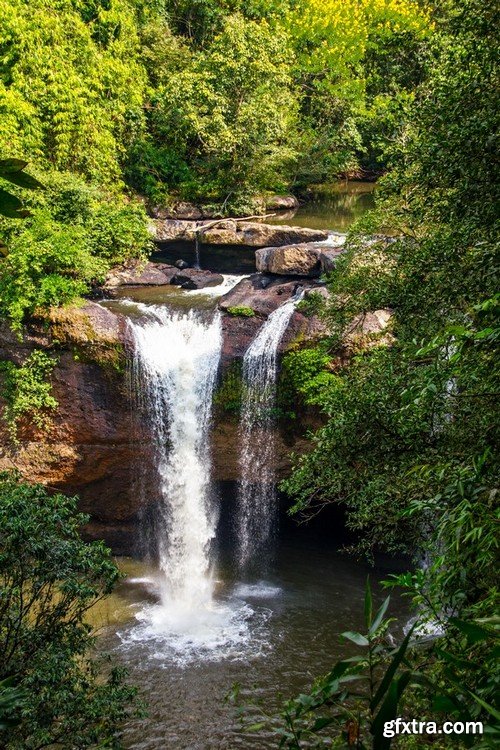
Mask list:
[[[209,497],[209,427],[220,359],[220,317],[144,307],[130,321],[133,385],[154,436],[161,503],[157,554],[162,603],[177,619],[210,605],[210,547],[216,510]],[[170,619],[172,619],[170,617]]]

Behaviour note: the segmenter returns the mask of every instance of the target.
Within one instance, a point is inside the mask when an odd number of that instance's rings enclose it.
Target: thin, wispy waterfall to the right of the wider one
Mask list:
[[[268,317],[243,359],[240,481],[237,535],[244,568],[265,554],[276,518],[275,423],[278,347],[300,297],[285,302]]]

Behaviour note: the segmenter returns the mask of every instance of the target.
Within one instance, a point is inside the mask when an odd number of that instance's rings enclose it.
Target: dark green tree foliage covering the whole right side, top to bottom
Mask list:
[[[341,504],[358,551],[415,556],[393,584],[413,601],[416,632],[438,637],[413,666],[412,700],[422,715],[484,721],[484,737],[460,739],[482,747],[498,743],[500,716],[493,19],[491,3],[440,6],[378,213],[329,280],[332,347],[345,353],[356,316],[381,308],[395,341],[344,364],[342,387],[321,398],[326,426],[284,483],[292,511]],[[396,236],[367,241],[388,226]]]

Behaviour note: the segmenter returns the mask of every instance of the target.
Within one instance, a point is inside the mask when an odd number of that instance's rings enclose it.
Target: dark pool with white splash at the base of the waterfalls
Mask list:
[[[377,582],[394,569],[387,561],[370,569],[342,554],[334,527],[329,523],[326,531],[321,526],[320,533],[318,526],[288,524],[274,562],[254,575],[238,574],[222,549],[214,572],[217,627],[198,641],[197,631],[175,641],[148,631],[143,615],[158,600],[158,572],[144,562],[121,561],[127,579],[95,616],[104,625],[100,647],[130,669],[148,704],[149,716],[127,727],[126,747],[277,746],[265,733],[242,731],[225,695],[239,683],[245,698],[264,701],[273,712],[279,693],[291,697],[307,689],[336,659],[352,653],[339,636],[347,629],[363,629],[367,574],[381,600]],[[393,603],[392,614],[404,621],[401,602]]]

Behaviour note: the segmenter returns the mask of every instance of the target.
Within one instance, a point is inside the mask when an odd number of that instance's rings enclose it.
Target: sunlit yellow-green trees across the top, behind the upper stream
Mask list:
[[[228,213],[383,168],[430,24],[411,0],[4,0],[0,28],[0,152]]]

